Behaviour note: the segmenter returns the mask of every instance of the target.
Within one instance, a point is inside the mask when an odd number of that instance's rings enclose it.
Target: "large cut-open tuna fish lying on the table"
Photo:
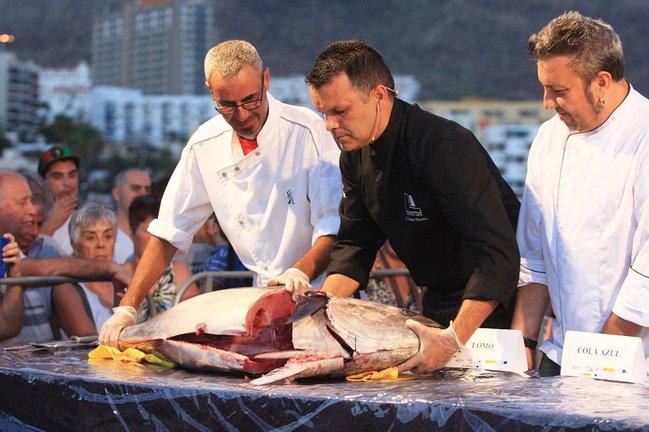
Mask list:
[[[288,324],[296,305],[284,289],[203,294],[124,329],[120,348],[157,350],[190,369],[266,374],[253,380],[255,384],[380,370],[404,362],[419,349],[417,335],[405,325],[413,317],[402,309],[311,297],[322,307]]]

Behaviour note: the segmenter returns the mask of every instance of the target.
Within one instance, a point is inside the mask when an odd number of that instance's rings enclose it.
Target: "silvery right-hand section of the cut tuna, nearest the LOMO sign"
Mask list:
[[[433,320],[413,316],[397,307],[330,297],[325,308],[293,324],[293,346],[301,355],[289,356],[283,367],[251,383],[264,385],[314,376],[343,377],[397,366],[419,350],[419,338],[406,325],[408,319],[441,328]]]

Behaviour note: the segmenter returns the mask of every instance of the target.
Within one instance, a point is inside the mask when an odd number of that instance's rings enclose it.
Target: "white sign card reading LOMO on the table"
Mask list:
[[[490,369],[523,374],[527,356],[520,330],[479,328],[446,367]],[[527,376],[527,375],[525,375]]]

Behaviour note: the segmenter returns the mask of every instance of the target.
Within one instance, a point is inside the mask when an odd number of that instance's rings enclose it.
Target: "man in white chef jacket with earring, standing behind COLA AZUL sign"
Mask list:
[[[560,373],[567,330],[639,336],[649,357],[649,100],[624,79],[622,43],[600,20],[563,14],[528,45],[557,115],[529,154],[512,326],[532,367],[551,302],[541,375]]]

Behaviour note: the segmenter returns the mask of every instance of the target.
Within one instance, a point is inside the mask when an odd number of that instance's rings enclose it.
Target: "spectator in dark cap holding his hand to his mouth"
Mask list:
[[[50,147],[38,160],[38,174],[54,197],[41,232],[54,237],[61,249],[71,255],[68,223],[79,198],[79,157],[69,147]]]

